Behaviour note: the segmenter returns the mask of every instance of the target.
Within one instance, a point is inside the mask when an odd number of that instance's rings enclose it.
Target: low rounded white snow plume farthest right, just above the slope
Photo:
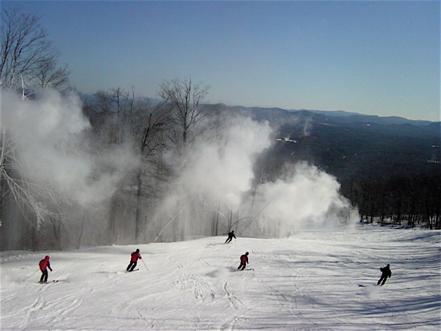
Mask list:
[[[261,211],[258,223],[261,228],[278,224],[279,235],[286,236],[300,228],[356,221],[356,210],[339,188],[335,177],[314,165],[298,163],[283,179],[258,186],[254,199],[256,210]]]

